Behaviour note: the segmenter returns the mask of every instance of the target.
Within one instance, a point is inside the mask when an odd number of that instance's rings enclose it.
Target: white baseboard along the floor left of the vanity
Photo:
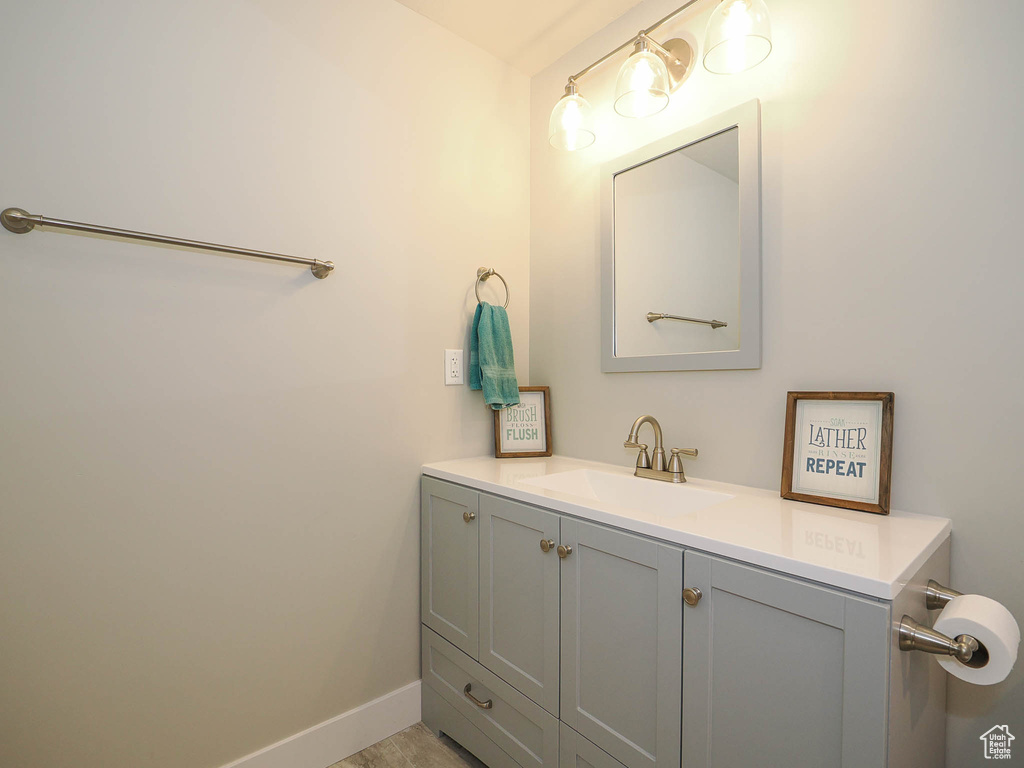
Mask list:
[[[221,768],[327,768],[420,722],[420,681]]]

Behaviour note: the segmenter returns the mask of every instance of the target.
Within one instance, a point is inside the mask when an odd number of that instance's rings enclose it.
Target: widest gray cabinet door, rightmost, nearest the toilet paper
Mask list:
[[[889,608],[686,552],[683,766],[884,768]]]

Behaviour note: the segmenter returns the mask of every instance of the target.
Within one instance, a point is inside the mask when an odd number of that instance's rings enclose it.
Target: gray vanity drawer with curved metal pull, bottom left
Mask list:
[[[426,627],[422,648],[423,682],[487,738],[524,768],[558,765],[554,717]],[[470,696],[490,707],[482,709]]]

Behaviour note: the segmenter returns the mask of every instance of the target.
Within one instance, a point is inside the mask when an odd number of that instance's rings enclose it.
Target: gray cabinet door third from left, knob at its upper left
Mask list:
[[[561,719],[629,768],[678,768],[682,552],[562,518]]]

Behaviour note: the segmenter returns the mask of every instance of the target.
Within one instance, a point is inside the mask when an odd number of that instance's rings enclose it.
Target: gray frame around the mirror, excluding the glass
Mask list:
[[[615,356],[614,177],[731,128],[739,130],[739,349]],[[601,170],[601,371],[761,368],[761,102],[734,106],[605,164]]]

